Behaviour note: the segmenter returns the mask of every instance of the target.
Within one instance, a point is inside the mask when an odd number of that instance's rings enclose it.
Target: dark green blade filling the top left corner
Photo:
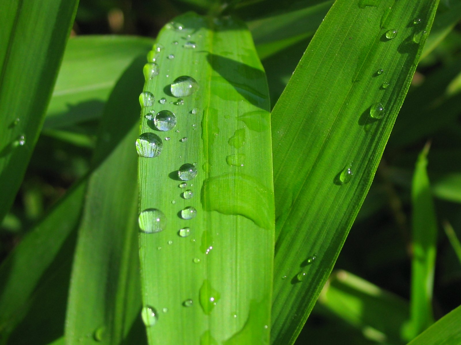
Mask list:
[[[14,200],[40,133],[77,4],[6,1],[0,11],[0,219]]]

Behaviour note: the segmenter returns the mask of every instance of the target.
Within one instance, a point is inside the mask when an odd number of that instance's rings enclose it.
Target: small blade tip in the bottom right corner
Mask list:
[[[458,345],[461,342],[461,306],[413,339],[408,345]]]

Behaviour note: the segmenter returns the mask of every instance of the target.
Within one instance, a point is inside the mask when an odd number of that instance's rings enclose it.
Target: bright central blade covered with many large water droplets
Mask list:
[[[153,52],[136,143],[149,344],[268,344],[269,98],[251,35],[189,13]]]

